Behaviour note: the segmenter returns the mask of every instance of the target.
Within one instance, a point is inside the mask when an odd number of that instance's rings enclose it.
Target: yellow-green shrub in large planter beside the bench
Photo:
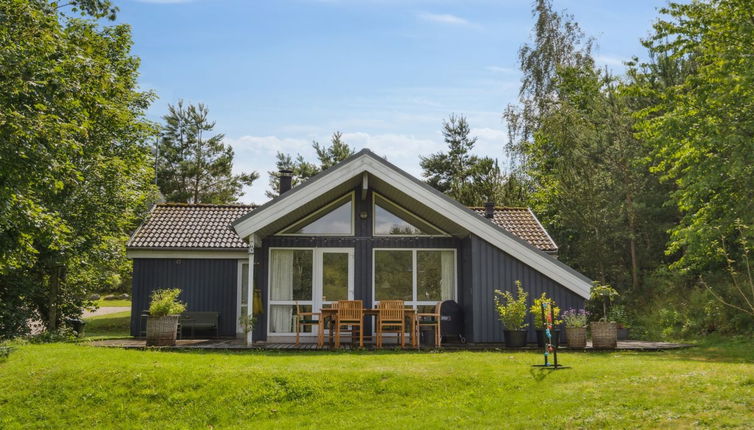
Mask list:
[[[147,318],[147,346],[174,346],[178,335],[178,318],[186,305],[178,301],[181,290],[155,290]]]

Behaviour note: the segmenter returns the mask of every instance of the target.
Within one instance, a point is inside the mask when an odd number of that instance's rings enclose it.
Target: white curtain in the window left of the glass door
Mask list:
[[[293,300],[293,251],[272,251],[270,300]],[[270,306],[270,332],[290,333],[293,306]]]

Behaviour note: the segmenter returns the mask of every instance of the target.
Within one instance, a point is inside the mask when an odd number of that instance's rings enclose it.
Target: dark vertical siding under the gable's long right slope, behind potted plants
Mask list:
[[[529,293],[529,305],[531,300],[546,292],[563,311],[584,307],[584,299],[579,295],[479,237],[472,235],[464,240],[463,252],[468,256],[470,266],[465,272],[464,308],[472,317],[467,316],[466,326],[469,338],[474,342],[503,341],[503,327],[493,301],[494,291],[515,291],[517,280]],[[533,341],[533,319],[531,315],[528,318],[529,340]]]

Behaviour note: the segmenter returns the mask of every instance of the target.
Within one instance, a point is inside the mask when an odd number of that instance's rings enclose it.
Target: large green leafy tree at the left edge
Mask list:
[[[73,2],[94,16],[106,1]],[[153,196],[129,27],[57,3],[0,0],[0,337],[50,329],[127,272],[124,244]],[[110,12],[108,12],[110,11]]]

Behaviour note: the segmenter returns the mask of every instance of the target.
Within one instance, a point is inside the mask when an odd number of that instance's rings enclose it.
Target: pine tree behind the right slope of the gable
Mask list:
[[[520,191],[513,176],[503,174],[497,160],[472,154],[476,137],[463,115],[443,121],[447,152],[420,157],[422,175],[429,185],[468,206],[487,201],[520,204]]]

